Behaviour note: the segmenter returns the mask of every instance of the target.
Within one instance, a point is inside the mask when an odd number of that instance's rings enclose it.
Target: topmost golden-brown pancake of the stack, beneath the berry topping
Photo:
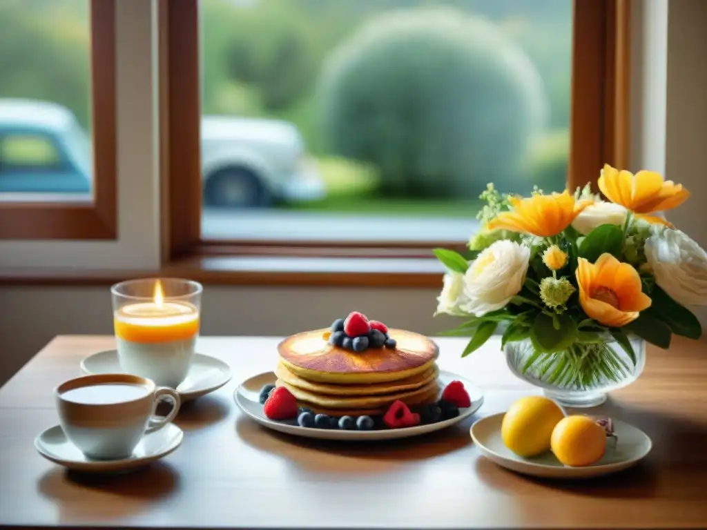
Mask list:
[[[281,363],[310,382],[372,384],[422,374],[439,355],[436,343],[412,331],[390,329],[397,348],[368,348],[360,353],[332,346],[324,338],[325,331],[329,330],[305,331],[279,343]]]

